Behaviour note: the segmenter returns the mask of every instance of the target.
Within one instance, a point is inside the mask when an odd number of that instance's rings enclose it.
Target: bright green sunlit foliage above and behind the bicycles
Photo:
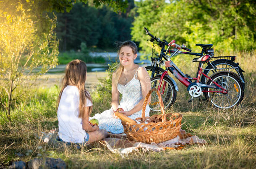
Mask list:
[[[159,8],[151,11],[151,4]],[[161,39],[176,40],[194,51],[200,50],[196,43],[212,43],[214,50],[222,53],[256,48],[256,5],[251,0],[145,0],[137,5],[138,16],[131,34],[148,53],[152,43],[146,42],[149,37],[143,27]]]

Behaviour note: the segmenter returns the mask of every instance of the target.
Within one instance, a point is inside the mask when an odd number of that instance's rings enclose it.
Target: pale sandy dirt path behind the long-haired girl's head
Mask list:
[[[40,87],[51,87],[54,85],[60,86],[64,73],[45,74],[37,81],[37,85]],[[98,78],[104,78],[107,76],[106,72],[88,72],[86,79],[86,88],[93,88],[100,83]]]

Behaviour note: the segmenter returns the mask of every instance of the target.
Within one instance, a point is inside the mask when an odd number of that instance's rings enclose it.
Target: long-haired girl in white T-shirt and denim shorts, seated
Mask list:
[[[57,102],[59,138],[68,143],[91,143],[107,137],[107,131],[89,123],[91,95],[85,89],[87,67],[78,59],[68,63]]]

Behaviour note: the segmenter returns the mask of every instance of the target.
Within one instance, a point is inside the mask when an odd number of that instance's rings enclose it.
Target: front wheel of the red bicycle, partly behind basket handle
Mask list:
[[[161,76],[155,76],[151,79],[151,88],[158,88]],[[160,88],[160,94],[163,99],[164,108],[169,108],[176,100],[177,91],[170,78],[164,77]],[[161,111],[157,92],[153,91],[151,94],[151,102],[149,108],[152,111]]]

